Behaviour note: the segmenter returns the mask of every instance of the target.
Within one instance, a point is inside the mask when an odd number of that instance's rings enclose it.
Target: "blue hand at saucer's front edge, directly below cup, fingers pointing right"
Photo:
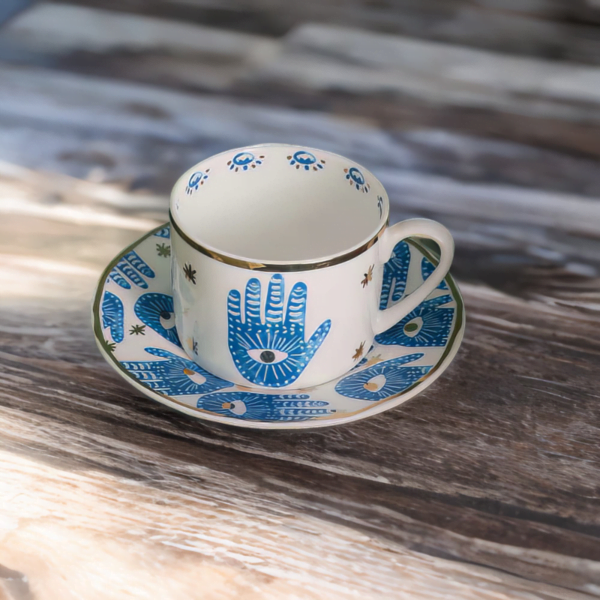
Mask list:
[[[198,399],[198,408],[250,421],[306,421],[335,412],[307,394],[271,396],[254,392],[223,392]]]

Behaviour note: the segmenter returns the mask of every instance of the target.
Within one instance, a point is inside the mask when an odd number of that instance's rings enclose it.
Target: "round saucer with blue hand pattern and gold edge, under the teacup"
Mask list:
[[[170,227],[146,234],[103,273],[93,305],[96,342],[129,383],[188,415],[261,429],[327,427],[398,406],[431,385],[450,365],[463,337],[465,311],[448,275],[414,311],[356,349],[357,365],[339,379],[310,389],[236,385],[191,361],[193,340],[175,328],[170,276]],[[418,242],[400,242],[386,264],[385,308],[418,287],[436,259]]]

